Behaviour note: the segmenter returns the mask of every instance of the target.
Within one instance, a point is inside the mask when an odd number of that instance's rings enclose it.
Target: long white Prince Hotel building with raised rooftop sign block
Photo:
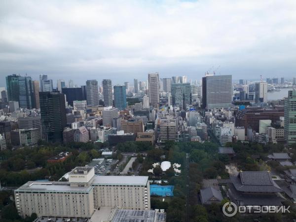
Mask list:
[[[97,176],[93,167],[76,167],[69,182],[28,182],[14,191],[22,217],[90,218],[99,207],[150,210],[148,177]]]

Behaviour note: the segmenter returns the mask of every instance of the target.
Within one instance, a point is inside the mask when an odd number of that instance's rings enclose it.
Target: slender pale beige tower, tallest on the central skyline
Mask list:
[[[150,105],[159,104],[159,74],[148,74],[149,103]]]

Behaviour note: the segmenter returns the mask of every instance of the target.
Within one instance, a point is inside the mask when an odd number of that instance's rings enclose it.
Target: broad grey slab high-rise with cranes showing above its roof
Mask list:
[[[231,75],[207,75],[202,78],[202,103],[204,109],[229,108],[231,102]]]

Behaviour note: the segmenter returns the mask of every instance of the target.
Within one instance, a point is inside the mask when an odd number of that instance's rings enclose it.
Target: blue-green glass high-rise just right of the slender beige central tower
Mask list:
[[[186,105],[191,104],[191,86],[190,83],[172,84],[173,105],[185,109]]]

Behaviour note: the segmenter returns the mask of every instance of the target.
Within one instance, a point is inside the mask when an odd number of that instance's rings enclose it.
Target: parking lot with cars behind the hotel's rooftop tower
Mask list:
[[[93,159],[87,166],[95,168],[96,175],[108,175],[111,173],[111,166],[117,164],[118,160],[116,159]]]

